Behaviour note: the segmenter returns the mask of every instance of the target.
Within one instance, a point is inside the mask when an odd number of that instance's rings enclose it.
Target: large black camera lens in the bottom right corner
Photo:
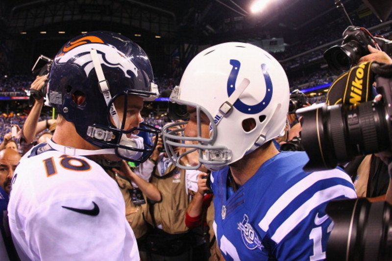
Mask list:
[[[392,257],[392,206],[366,198],[333,200],[326,213],[334,221],[328,261],[387,261]]]

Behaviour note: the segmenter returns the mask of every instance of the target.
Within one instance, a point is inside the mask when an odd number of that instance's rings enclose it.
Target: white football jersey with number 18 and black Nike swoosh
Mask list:
[[[139,261],[117,183],[94,161],[48,146],[27,152],[12,180],[8,215],[21,260]]]

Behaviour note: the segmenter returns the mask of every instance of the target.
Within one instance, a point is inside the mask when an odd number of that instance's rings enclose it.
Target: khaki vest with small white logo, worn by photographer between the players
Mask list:
[[[185,213],[189,204],[185,187],[185,169],[171,164],[162,177],[159,177],[156,168],[154,174],[150,183],[161,192],[162,200],[148,208],[147,222],[153,226],[161,224],[163,231],[169,234],[188,232],[185,225]]]

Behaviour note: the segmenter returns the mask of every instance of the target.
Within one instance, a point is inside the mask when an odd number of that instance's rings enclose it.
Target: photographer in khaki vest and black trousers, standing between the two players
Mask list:
[[[181,148],[175,148],[180,152]],[[186,158],[184,164],[188,164]],[[150,183],[162,195],[160,201],[149,202],[146,221],[153,227],[147,234],[146,247],[152,260],[191,260],[195,235],[185,225],[185,213],[191,201],[190,190],[197,190],[198,171],[186,171],[172,164],[163,146],[162,138],[151,157],[141,164],[143,176],[150,175]],[[152,171],[151,171],[152,168]],[[146,173],[149,171],[149,173]]]

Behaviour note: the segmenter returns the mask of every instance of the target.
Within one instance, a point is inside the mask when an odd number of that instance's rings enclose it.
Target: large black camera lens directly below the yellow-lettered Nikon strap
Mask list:
[[[296,111],[302,116],[302,146],[309,156],[305,171],[331,169],[358,155],[390,147],[389,119],[383,103],[342,106],[319,104]]]

